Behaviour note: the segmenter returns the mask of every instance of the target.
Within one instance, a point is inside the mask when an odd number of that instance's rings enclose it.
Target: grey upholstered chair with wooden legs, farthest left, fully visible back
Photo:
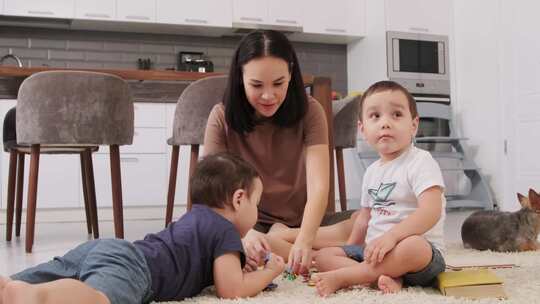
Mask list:
[[[26,78],[19,88],[16,130],[17,144],[11,151],[31,155],[26,251],[31,252],[34,241],[37,178],[42,149],[46,152],[81,153],[87,214],[94,223],[94,233],[97,233],[91,151],[99,145],[110,146],[115,235],[123,238],[119,145],[133,142],[133,101],[127,83],[117,76],[95,72],[36,73]],[[9,200],[8,204],[13,205]]]

